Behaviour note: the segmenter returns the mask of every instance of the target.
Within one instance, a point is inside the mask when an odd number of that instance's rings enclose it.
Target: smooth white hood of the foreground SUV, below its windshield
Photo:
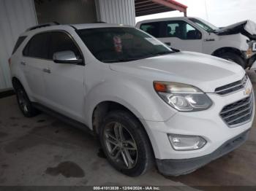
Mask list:
[[[214,93],[217,87],[244,77],[238,64],[197,52],[176,52],[138,61],[110,63],[110,69],[153,82],[180,82]]]

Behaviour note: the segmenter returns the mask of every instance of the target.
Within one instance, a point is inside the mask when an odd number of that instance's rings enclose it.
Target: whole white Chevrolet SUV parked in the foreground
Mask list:
[[[129,176],[154,163],[166,175],[195,171],[244,143],[254,118],[241,66],[172,50],[130,26],[30,28],[10,69],[26,117],[39,109],[88,127]]]

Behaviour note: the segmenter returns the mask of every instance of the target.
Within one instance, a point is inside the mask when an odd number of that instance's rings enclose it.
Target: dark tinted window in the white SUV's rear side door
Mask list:
[[[48,59],[49,33],[34,35],[23,50],[23,55],[32,58]]]

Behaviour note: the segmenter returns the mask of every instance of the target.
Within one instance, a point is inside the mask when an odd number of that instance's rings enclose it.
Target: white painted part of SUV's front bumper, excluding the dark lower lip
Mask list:
[[[249,87],[252,88],[251,83]],[[224,106],[248,97],[248,95],[244,95],[244,90],[225,96],[214,93],[208,94],[208,96],[214,101],[214,104],[205,111],[177,112],[169,120],[163,122],[141,120],[146,128],[157,159],[178,160],[209,155],[227,140],[233,139],[233,137],[252,127],[255,115],[254,109],[252,109],[252,116],[249,121],[234,128],[228,127],[219,115]],[[201,136],[207,143],[201,149],[177,151],[171,146],[167,134]]]

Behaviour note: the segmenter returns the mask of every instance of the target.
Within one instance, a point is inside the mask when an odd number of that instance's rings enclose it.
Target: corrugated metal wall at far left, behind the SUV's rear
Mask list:
[[[18,36],[36,24],[33,0],[0,0],[0,90],[12,87],[8,58]]]

